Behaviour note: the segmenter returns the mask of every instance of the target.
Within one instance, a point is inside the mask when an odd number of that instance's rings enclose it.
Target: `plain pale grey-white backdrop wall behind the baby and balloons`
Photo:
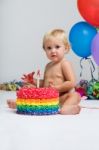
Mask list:
[[[0,82],[20,79],[38,68],[43,74],[48,61],[42,49],[45,32],[62,28],[68,37],[71,27],[82,20],[77,0],[0,0]],[[79,80],[80,58],[72,51],[66,57]],[[84,68],[84,78],[90,79],[86,61]]]

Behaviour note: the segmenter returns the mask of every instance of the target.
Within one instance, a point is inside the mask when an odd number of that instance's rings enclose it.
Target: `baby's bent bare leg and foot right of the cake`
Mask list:
[[[78,105],[80,102],[80,95],[76,92],[66,93],[60,97],[61,110],[60,113],[63,115],[75,115],[79,114],[81,108]]]

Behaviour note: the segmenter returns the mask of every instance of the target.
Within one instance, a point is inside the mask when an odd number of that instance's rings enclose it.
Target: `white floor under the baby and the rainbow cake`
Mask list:
[[[6,105],[15,92],[0,91],[0,150],[99,150],[99,109],[79,115],[25,116]],[[81,106],[99,108],[99,101]]]

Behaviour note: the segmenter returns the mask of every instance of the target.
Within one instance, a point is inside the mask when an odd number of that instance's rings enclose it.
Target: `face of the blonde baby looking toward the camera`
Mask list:
[[[45,52],[48,59],[53,62],[59,62],[64,58],[66,48],[62,40],[51,38],[45,43]]]

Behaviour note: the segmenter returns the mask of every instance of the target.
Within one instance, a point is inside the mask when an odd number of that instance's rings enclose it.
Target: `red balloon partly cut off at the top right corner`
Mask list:
[[[77,6],[80,14],[89,24],[99,27],[99,0],[78,0]]]

